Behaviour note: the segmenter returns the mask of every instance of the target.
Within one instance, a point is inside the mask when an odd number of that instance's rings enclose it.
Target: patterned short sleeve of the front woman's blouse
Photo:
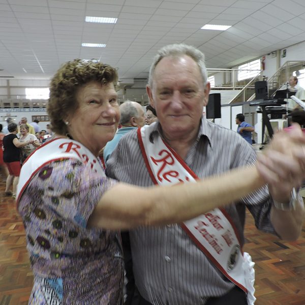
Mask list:
[[[93,172],[77,160],[55,161],[36,173],[22,201],[37,198],[64,219],[85,228],[100,198],[114,185],[115,180]]]

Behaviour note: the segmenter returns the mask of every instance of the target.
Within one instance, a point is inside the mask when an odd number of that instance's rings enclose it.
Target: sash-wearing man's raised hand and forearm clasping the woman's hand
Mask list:
[[[294,127],[293,134],[290,135],[296,142],[297,139],[302,141],[303,135],[300,128]],[[276,137],[279,136],[275,135]],[[271,207],[273,227],[282,239],[295,240],[301,232],[305,217],[303,202],[297,200],[295,209],[292,210],[281,210],[279,206],[282,204],[288,209],[293,188],[299,188],[305,180],[305,146],[293,147],[293,144],[286,142],[287,139],[288,136],[285,137],[282,132],[281,141],[273,141],[271,144],[277,151],[272,150],[265,155],[258,155],[258,170],[267,181],[269,193],[275,201]],[[292,146],[289,147],[289,145]],[[287,155],[288,149],[290,156]]]

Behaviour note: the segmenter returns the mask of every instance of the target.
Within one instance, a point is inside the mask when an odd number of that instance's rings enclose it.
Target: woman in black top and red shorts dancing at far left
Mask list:
[[[3,160],[9,170],[9,175],[6,180],[5,195],[12,195],[16,197],[16,189],[18,184],[18,178],[20,174],[20,148],[31,144],[31,140],[24,141],[21,143],[17,138],[18,127],[15,123],[8,125],[9,133],[3,138]],[[13,193],[10,191],[11,185],[13,184]]]

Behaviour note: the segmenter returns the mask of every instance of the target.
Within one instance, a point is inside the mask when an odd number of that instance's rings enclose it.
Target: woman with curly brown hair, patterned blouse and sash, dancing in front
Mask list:
[[[30,304],[121,304],[117,230],[191,219],[264,183],[256,167],[172,187],[140,188],[107,178],[98,154],[117,129],[117,81],[111,66],[80,59],[51,80],[48,114],[55,137],[26,160],[18,185],[34,272]]]

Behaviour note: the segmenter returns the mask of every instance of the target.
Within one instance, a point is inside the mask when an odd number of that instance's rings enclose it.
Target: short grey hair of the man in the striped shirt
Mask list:
[[[205,67],[205,57],[204,54],[196,49],[193,46],[180,43],[180,44],[171,44],[162,47],[158,52],[157,55],[153,59],[153,64],[151,64],[150,69],[149,69],[149,77],[148,77],[148,84],[150,88],[153,86],[153,77],[154,77],[154,72],[156,69],[156,66],[160,62],[160,60],[164,57],[167,56],[183,56],[183,55],[188,55],[191,58],[194,59],[196,64],[199,67],[200,73],[202,75],[203,79],[203,85],[207,83],[207,72],[206,72],[206,67]]]

